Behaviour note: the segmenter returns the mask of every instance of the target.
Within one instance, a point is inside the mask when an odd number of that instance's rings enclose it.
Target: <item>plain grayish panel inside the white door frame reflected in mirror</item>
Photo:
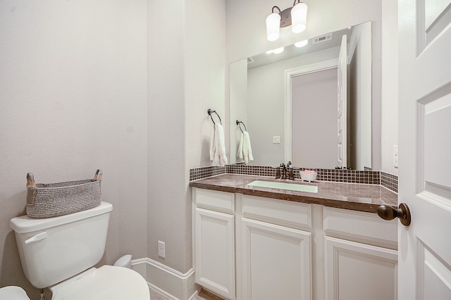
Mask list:
[[[292,77],[292,164],[337,163],[337,68]]]

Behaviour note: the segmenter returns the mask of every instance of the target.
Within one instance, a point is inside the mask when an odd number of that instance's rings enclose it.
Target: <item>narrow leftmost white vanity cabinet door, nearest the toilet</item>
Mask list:
[[[226,299],[235,299],[234,219],[203,208],[195,211],[196,282]]]

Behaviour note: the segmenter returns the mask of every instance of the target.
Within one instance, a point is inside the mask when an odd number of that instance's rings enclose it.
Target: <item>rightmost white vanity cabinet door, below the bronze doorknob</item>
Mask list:
[[[397,299],[397,251],[326,237],[326,299]]]

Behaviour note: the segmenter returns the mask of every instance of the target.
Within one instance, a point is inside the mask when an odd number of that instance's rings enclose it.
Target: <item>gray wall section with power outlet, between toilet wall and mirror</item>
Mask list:
[[[225,10],[225,0],[148,2],[147,257],[181,273],[192,268],[189,169],[210,164],[207,109],[229,126]]]

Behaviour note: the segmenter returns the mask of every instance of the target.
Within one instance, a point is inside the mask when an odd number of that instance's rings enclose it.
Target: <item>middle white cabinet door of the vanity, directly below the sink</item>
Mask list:
[[[243,299],[311,299],[310,236],[242,218]]]

